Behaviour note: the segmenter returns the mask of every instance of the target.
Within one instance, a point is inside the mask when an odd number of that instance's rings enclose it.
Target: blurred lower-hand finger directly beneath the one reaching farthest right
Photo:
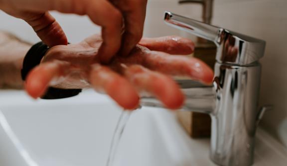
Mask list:
[[[184,95],[179,86],[165,75],[152,72],[140,65],[132,65],[125,70],[125,76],[140,90],[153,94],[167,108],[180,108],[184,102]]]

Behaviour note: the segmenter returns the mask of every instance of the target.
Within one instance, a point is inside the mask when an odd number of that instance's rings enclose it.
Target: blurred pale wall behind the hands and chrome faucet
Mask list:
[[[214,0],[212,24],[267,41],[263,65],[260,105],[273,104],[261,125],[287,147],[287,0]],[[177,0],[149,0],[145,37],[194,36],[166,26],[165,10],[201,19],[199,4],[178,4]],[[52,12],[63,27],[69,42],[76,43],[100,32],[85,16]],[[24,21],[0,11],[0,30],[9,31],[31,43],[39,39]]]

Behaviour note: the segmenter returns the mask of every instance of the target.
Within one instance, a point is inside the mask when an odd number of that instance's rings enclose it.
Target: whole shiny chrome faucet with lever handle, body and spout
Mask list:
[[[267,109],[258,109],[265,41],[171,12],[165,12],[164,20],[217,46],[213,85],[177,80],[186,95],[181,110],[211,116],[210,158],[215,164],[251,166],[257,124]],[[152,97],[143,97],[142,104],[162,107]]]

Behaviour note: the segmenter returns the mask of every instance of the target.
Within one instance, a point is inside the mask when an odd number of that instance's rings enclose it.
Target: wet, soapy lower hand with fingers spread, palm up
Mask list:
[[[122,107],[134,109],[139,105],[138,92],[145,91],[167,108],[176,109],[183,104],[184,95],[167,75],[212,82],[213,72],[206,64],[196,58],[179,56],[193,52],[194,44],[189,39],[145,38],[129,56],[116,56],[108,66],[99,63],[97,53],[101,43],[101,37],[94,35],[79,44],[51,48],[42,63],[29,73],[25,84],[28,94],[40,97],[49,85],[59,88],[92,86],[110,95]]]

